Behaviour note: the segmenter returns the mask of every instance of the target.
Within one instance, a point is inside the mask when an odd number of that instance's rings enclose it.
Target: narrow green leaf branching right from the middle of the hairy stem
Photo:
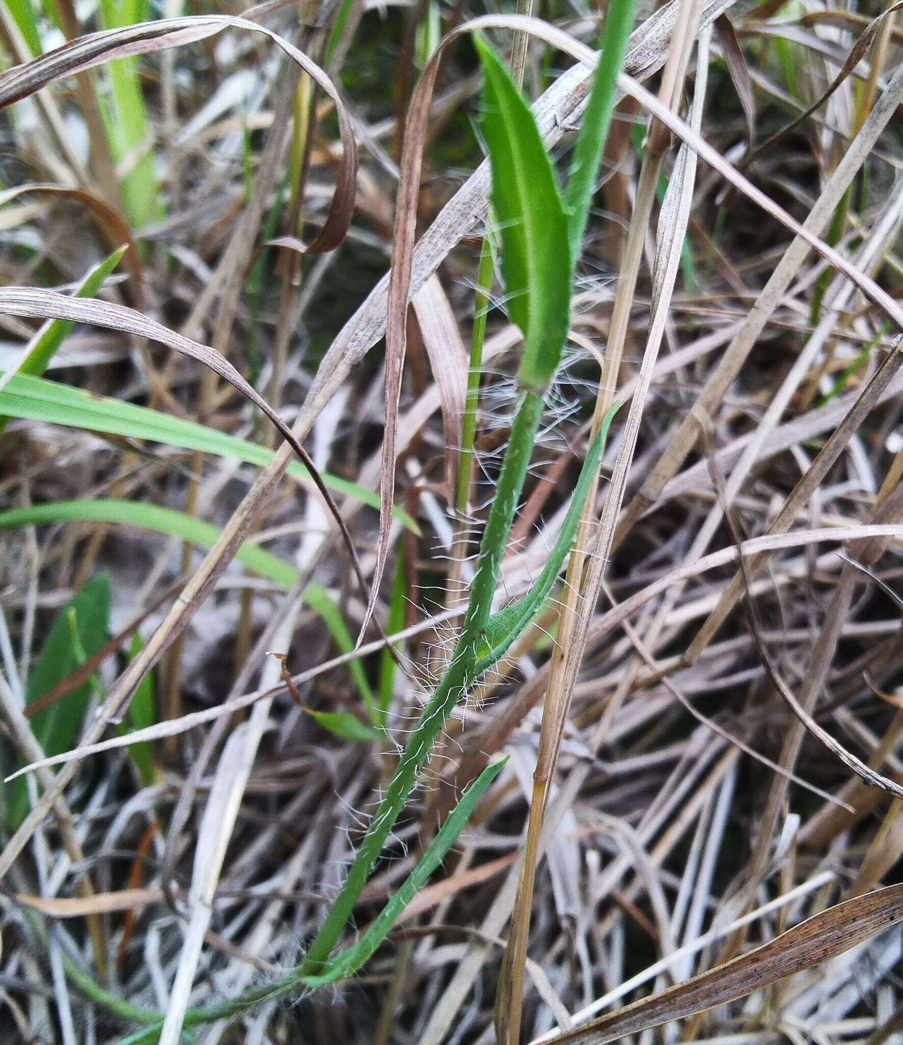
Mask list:
[[[546,565],[542,567],[542,573],[539,575],[536,583],[523,599],[512,603],[510,606],[506,606],[504,609],[500,609],[486,623],[485,637],[480,649],[478,672],[487,671],[508,652],[512,643],[524,631],[530,621],[533,620],[552,590],[555,579],[564,564],[564,559],[571,551],[574,538],[577,536],[583,506],[593,482],[599,474],[599,468],[602,465],[602,455],[605,450],[605,439],[608,435],[608,427],[620,405],[620,403],[615,403],[608,410],[608,413],[602,420],[598,435],[589,446],[586,460],[580,469],[580,478],[577,480],[574,494],[571,497],[571,505],[561,525],[558,539],[555,541],[555,547],[546,560]]]

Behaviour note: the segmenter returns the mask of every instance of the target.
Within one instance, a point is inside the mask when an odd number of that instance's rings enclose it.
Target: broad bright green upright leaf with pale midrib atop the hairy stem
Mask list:
[[[495,51],[474,36],[485,85],[481,126],[501,226],[506,307],[524,334],[518,379],[542,393],[568,338],[571,255],[568,217],[533,114]]]

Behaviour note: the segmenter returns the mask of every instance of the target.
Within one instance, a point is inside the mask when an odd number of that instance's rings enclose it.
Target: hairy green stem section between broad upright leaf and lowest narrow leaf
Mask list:
[[[411,739],[395,769],[386,796],[370,825],[348,872],[342,891],[332,905],[323,928],[310,945],[301,966],[305,975],[321,972],[332,948],[351,918],[361,890],[370,877],[383,845],[414,786],[439,730],[452,710],[476,677],[478,650],[492,609],[492,598],[502,567],[502,557],[514,519],[514,512],[536,439],[543,399],[536,392],[526,392],[511,425],[511,437],[502,464],[502,472],[489,518],[483,533],[480,558],[470,587],[470,601],[448,670],[420,716]]]

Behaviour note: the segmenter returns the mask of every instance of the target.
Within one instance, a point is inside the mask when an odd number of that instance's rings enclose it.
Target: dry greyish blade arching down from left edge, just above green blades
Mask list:
[[[202,345],[201,342],[192,341],[181,333],[176,333],[168,327],[163,326],[162,323],[158,323],[156,320],[152,320],[146,316],[142,316],[141,312],[135,311],[134,308],[113,304],[109,301],[69,298],[63,294],[57,294],[55,291],[32,289],[24,286],[4,286],[0,287],[0,312],[45,320],[62,319],[74,323],[90,323],[94,326],[107,327],[110,330],[120,330],[135,338],[157,341],[161,345],[180,352],[182,355],[196,359],[229,381],[234,389],[240,392],[247,399],[250,399],[255,407],[270,418],[279,429],[285,442],[295,450],[299,459],[303,462],[304,467],[309,471],[315,486],[339,526],[342,539],[351,556],[361,589],[362,591],[367,590],[367,580],[364,577],[364,571],[357,558],[357,552],[354,549],[351,534],[348,532],[345,519],[342,517],[342,513],[332,500],[332,494],[329,492],[317,466],[310,460],[309,455],[301,443],[295,438],[288,425],[279,417],[267,400],[245,380],[227,358],[207,345]]]

